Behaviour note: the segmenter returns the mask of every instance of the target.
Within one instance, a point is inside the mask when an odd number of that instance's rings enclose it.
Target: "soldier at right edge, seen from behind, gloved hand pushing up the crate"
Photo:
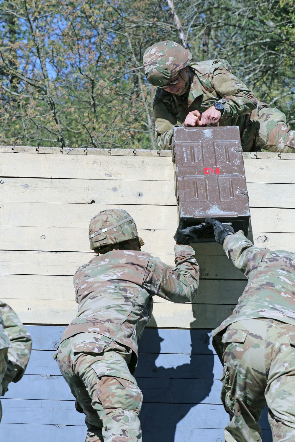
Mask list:
[[[213,332],[223,363],[226,442],[261,442],[268,405],[273,442],[295,441],[295,254],[254,247],[240,230],[206,219],[227,257],[249,279],[238,305]]]

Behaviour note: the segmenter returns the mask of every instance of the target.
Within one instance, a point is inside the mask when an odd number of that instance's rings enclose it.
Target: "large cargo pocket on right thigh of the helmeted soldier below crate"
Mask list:
[[[100,379],[97,398],[106,414],[119,408],[139,414],[142,407],[142,392],[131,373],[119,367],[94,364],[92,369]]]

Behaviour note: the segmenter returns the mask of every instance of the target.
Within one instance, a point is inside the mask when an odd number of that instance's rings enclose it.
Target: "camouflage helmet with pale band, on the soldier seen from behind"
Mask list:
[[[90,220],[89,241],[92,250],[131,240],[137,236],[136,224],[126,210],[103,210]]]

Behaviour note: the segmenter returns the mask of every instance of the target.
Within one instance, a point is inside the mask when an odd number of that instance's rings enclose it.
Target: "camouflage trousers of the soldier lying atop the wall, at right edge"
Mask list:
[[[255,150],[264,152],[295,152],[295,130],[286,125],[286,115],[275,107],[252,112],[255,125]]]

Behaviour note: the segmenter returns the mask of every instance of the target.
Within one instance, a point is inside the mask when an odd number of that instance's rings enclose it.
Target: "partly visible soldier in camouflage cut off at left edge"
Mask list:
[[[32,339],[17,314],[0,301],[0,396],[9,382],[18,382],[30,359]],[[2,407],[0,403],[0,420]]]

